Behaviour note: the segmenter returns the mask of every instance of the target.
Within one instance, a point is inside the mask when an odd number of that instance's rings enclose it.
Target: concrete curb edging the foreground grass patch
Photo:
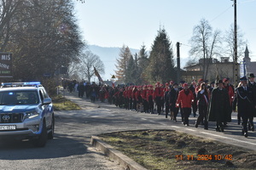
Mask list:
[[[122,154],[119,150],[113,149],[113,146],[106,144],[97,136],[91,136],[90,144],[101,150],[103,154],[113,159],[113,161],[119,163],[119,165],[125,167],[126,170],[147,170],[130,157]]]

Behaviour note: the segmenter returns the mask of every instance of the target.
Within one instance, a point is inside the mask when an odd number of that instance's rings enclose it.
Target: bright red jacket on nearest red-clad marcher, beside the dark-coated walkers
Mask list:
[[[191,90],[189,90],[189,94],[187,95],[185,94],[185,90],[183,89],[178,93],[176,106],[181,104],[182,108],[191,108],[193,101],[194,101],[194,95],[191,92]]]

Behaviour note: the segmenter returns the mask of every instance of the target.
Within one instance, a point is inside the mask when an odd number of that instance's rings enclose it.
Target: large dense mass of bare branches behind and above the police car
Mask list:
[[[78,59],[84,43],[71,1],[2,0],[0,3],[1,9],[7,8],[12,13],[8,15],[9,24],[0,28],[0,35],[5,43],[2,50],[13,53],[15,79],[40,81],[44,73],[54,76],[61,65],[68,66]]]

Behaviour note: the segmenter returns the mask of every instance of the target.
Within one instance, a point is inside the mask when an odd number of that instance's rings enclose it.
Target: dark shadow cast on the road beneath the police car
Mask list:
[[[80,137],[78,137],[80,138]],[[1,160],[48,159],[78,156],[90,153],[84,141],[55,133],[55,139],[48,140],[44,148],[34,147],[32,141],[4,140],[0,143]]]

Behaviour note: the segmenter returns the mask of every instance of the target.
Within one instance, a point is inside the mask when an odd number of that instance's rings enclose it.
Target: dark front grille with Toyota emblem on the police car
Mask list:
[[[0,123],[23,122],[23,113],[0,114]]]

